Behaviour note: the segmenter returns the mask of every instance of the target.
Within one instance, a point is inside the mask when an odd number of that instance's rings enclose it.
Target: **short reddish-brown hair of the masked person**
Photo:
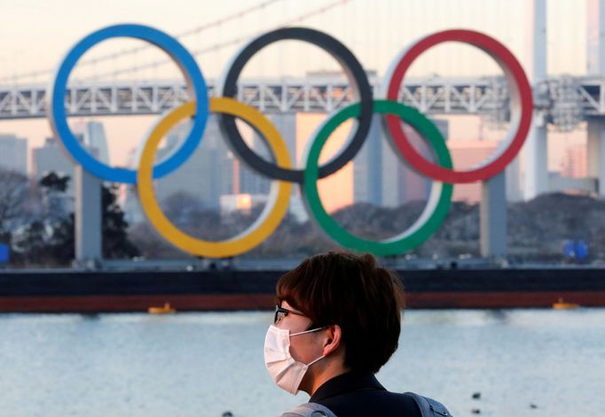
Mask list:
[[[370,254],[331,251],[305,259],[279,279],[277,297],[314,327],[340,326],[344,365],[353,370],[376,373],[397,350],[404,288]]]

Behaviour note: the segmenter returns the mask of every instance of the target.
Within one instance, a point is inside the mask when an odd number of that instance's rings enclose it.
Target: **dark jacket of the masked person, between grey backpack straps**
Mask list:
[[[373,374],[350,372],[325,382],[309,399],[337,417],[421,417],[413,398],[386,390]]]

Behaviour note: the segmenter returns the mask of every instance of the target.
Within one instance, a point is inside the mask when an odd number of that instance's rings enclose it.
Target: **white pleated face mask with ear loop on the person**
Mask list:
[[[321,329],[313,328],[290,335],[290,330],[286,328],[278,328],[273,325],[269,327],[264,339],[264,366],[279,388],[287,390],[290,394],[298,394],[298,387],[303,381],[307,369],[319,359],[325,357],[325,355],[322,355],[307,365],[295,360],[290,354],[290,337],[316,332]]]

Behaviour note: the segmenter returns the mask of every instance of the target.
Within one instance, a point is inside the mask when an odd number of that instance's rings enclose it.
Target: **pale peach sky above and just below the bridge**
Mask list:
[[[350,0],[334,5],[334,0],[274,0],[255,12],[222,24],[216,20],[242,10],[255,8],[263,1],[171,0],[0,0],[0,86],[14,83],[47,84],[52,73],[29,79],[15,79],[15,74],[52,69],[58,66],[67,50],[84,35],[116,23],[140,23],[159,28],[169,35],[179,35],[209,26],[195,35],[180,37],[189,50],[209,50],[196,56],[208,79],[223,73],[233,53],[253,35],[301,18],[305,13],[326,12],[296,22],[334,35],[358,57],[368,70],[381,76],[390,61],[405,45],[422,35],[452,27],[465,27],[496,37],[530,72],[526,20],[526,0]],[[584,0],[547,0],[547,70],[550,74],[585,73]],[[240,39],[240,42],[232,42]],[[232,42],[228,47],[213,48]],[[295,44],[296,43],[296,44]],[[87,53],[82,61],[98,58],[142,42],[124,39],[104,42]],[[98,81],[114,79],[157,79],[181,77],[170,64],[137,73],[114,76],[116,69],[138,66],[164,58],[161,51],[147,48],[127,59],[110,59],[92,66],[78,66],[70,81],[93,77]],[[325,52],[301,42],[279,42],[266,48],[245,68],[243,77],[301,76],[307,71],[337,69],[338,64]],[[423,54],[411,68],[412,76],[475,76],[499,73],[499,68],[483,52],[471,47],[447,43]],[[311,123],[310,118],[310,123]],[[477,118],[450,118],[454,140],[475,139]],[[128,151],[142,140],[157,118],[98,118],[106,125],[112,162],[123,165]],[[70,120],[77,123],[83,120]],[[313,122],[314,123],[314,122]],[[309,127],[311,129],[311,127]],[[304,130],[304,129],[303,129]],[[0,121],[0,133],[14,133],[28,139],[29,147],[40,146],[51,135],[47,120]],[[487,132],[497,139],[503,132]],[[581,133],[552,135],[549,166],[559,163],[561,143],[582,141]],[[559,137],[561,137],[559,139]],[[455,162],[455,161],[454,161]]]

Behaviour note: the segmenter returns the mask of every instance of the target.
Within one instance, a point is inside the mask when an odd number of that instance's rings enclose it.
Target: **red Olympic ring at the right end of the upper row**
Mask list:
[[[518,108],[521,107],[521,115],[513,140],[510,141],[506,150],[489,164],[468,171],[455,171],[428,161],[416,151],[405,135],[404,129],[401,127],[400,120],[397,116],[387,115],[387,127],[397,149],[403,153],[410,165],[421,174],[424,174],[433,180],[448,183],[485,181],[502,172],[515,158],[525,142],[525,138],[530,130],[531,117],[533,114],[533,99],[530,82],[527,80],[527,76],[523,71],[523,67],[519,64],[519,61],[517,61],[515,56],[510,50],[507,50],[507,47],[502,43],[496,41],[491,36],[473,30],[452,29],[428,35],[419,41],[414,42],[407,50],[403,51],[403,56],[398,58],[399,62],[397,62],[397,66],[395,66],[392,71],[388,83],[389,89],[387,90],[387,99],[397,101],[405,72],[412,65],[414,59],[418,58],[425,50],[442,42],[468,43],[483,50],[498,62],[505,73],[510,89],[512,120],[515,120],[515,115],[519,114]],[[389,77],[389,75],[387,75],[387,77]]]

